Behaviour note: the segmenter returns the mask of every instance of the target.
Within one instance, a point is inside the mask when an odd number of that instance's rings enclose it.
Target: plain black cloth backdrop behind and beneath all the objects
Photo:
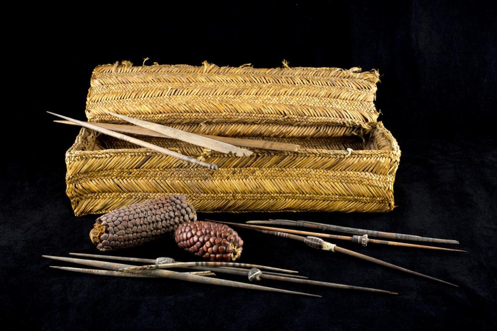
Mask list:
[[[5,30],[4,55],[12,59],[4,61],[4,97],[14,102],[2,112],[2,320],[12,329],[495,328],[494,1],[184,2],[29,6]],[[67,264],[42,254],[98,252],[87,236],[96,216],[75,217],[65,195],[64,153],[79,129],[52,123],[45,111],[84,119],[93,67],[120,60],[141,65],[145,57],[148,64],[275,67],[286,59],[290,66],[378,69],[380,120],[403,153],[394,211],[199,217],[286,217],[458,239],[469,253],[340,244],[460,288],[245,230],[238,231],[245,240],[241,262],[400,294],[264,281],[323,295],[312,299],[49,268]],[[10,130],[16,123],[27,136]],[[118,253],[194,260],[172,240]]]

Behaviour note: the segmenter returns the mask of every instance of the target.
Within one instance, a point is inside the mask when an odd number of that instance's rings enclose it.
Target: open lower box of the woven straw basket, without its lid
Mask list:
[[[218,165],[210,170],[83,128],[66,153],[76,215],[184,194],[197,211],[389,211],[400,149],[381,122],[363,137],[269,138],[297,152],[248,157],[167,138],[140,139]],[[253,138],[257,139],[257,138]]]

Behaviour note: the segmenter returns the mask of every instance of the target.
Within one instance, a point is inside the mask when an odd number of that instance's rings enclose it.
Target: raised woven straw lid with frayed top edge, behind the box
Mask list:
[[[119,123],[109,110],[180,130],[266,137],[327,137],[369,129],[378,71],[333,67],[253,68],[97,66],[91,76],[86,117]]]

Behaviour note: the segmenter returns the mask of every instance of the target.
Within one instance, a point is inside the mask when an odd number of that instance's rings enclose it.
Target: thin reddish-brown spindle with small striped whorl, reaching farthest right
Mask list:
[[[209,220],[206,219],[206,221],[209,221]],[[413,248],[422,248],[422,249],[429,249],[429,250],[439,250],[439,251],[467,252],[467,251],[463,251],[463,250],[455,250],[452,248],[445,248],[445,247],[426,246],[426,245],[417,245],[417,244],[409,244],[409,243],[400,243],[400,242],[396,242],[396,241],[371,239],[371,238],[368,238],[367,234],[362,235],[362,236],[354,235],[354,236],[350,237],[350,236],[340,236],[340,235],[320,233],[320,232],[309,232],[309,231],[275,228],[275,227],[271,227],[271,226],[239,224],[239,223],[225,222],[225,221],[220,222],[220,223],[240,226],[243,228],[273,230],[273,231],[280,231],[280,232],[285,232],[285,233],[299,234],[299,235],[304,235],[304,236],[314,236],[314,237],[327,238],[327,239],[345,240],[345,241],[351,241],[355,244],[361,244],[364,247],[367,246],[369,243],[371,243],[371,244],[381,244],[381,245],[389,245],[389,246],[402,246],[402,247],[413,247]]]

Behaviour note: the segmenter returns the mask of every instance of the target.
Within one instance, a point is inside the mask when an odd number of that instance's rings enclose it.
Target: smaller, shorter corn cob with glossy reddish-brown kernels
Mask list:
[[[180,248],[211,261],[235,261],[242,254],[244,241],[228,225],[196,221],[181,224],[174,233]]]

